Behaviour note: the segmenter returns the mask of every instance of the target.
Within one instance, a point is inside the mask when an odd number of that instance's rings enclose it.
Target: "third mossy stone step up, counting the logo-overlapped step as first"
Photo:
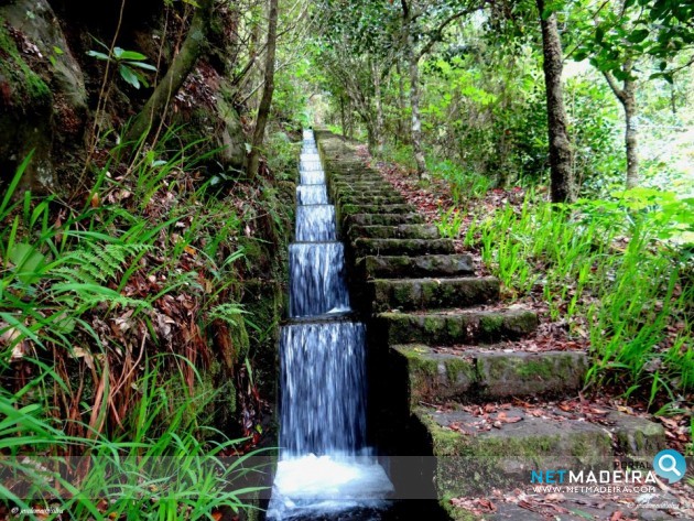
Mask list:
[[[391,346],[416,343],[430,346],[494,344],[518,339],[538,327],[538,316],[527,310],[379,313],[376,319],[379,332]]]

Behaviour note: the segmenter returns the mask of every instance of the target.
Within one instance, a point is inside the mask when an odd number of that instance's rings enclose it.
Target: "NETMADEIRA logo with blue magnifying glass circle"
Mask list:
[[[531,470],[531,485],[547,485],[556,487],[574,486],[609,486],[607,491],[622,491],[614,489],[615,486],[638,486],[648,487],[657,485],[658,476],[666,479],[669,484],[677,482],[684,477],[686,462],[684,456],[671,448],[661,451],[653,458],[652,465],[648,463],[631,462],[626,469],[615,468],[611,470],[571,470],[571,469],[546,469]],[[596,490],[597,491],[597,490]],[[629,491],[628,487],[623,491]]]

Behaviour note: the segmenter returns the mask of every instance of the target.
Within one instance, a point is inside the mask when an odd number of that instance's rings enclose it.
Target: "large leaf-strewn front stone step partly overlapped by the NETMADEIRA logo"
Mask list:
[[[597,476],[614,469],[616,453],[642,459],[650,468],[665,444],[661,425],[617,411],[605,411],[597,424],[542,403],[532,409],[478,409],[475,414],[433,408],[414,411],[435,456],[433,478],[442,501],[495,488],[531,490],[533,470],[565,470],[566,480],[570,470]]]

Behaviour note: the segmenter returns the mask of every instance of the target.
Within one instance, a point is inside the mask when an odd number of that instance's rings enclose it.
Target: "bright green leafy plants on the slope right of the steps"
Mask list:
[[[694,382],[686,355],[694,287],[684,278],[691,261],[659,239],[691,240],[684,232],[692,230],[692,202],[658,191],[618,195],[563,211],[530,197],[520,213],[509,206],[478,219],[479,237],[468,234],[466,241],[481,246],[482,261],[507,292],[541,291],[554,321],[588,336],[590,381],[610,379],[627,395],[649,390],[651,401],[661,393],[674,401]]]

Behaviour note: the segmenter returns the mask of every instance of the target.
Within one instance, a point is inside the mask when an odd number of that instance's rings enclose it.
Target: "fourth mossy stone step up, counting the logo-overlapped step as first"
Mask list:
[[[376,279],[368,286],[375,312],[469,307],[499,299],[495,276]]]

